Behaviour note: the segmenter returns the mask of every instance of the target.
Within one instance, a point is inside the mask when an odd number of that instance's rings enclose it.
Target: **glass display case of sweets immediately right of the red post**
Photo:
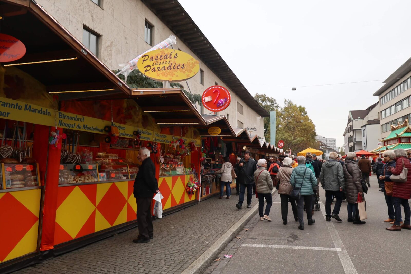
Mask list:
[[[59,184],[78,184],[97,182],[97,165],[86,163],[60,164]]]

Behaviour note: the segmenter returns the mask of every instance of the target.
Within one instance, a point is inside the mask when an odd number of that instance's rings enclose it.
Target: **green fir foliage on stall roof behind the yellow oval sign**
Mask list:
[[[118,73],[120,70],[113,71],[114,73]],[[120,74],[118,76],[121,80],[124,81],[124,75]],[[130,88],[162,88],[163,83],[159,81],[152,80],[143,74],[138,69],[134,69],[130,74],[127,76],[127,85]],[[182,85],[179,83],[171,83],[171,87],[175,88],[182,88],[182,91],[188,97],[188,99],[193,103],[201,104],[201,95],[199,94],[190,94],[187,90],[184,89]]]

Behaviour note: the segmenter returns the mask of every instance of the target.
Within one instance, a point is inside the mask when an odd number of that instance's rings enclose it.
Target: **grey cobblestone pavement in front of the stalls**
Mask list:
[[[134,228],[14,273],[181,273],[248,212],[247,204],[236,209],[237,202],[236,195],[215,196],[157,219],[147,244],[132,242]]]

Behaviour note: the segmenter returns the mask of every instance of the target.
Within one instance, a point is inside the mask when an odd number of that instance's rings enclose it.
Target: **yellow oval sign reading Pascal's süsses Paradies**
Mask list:
[[[148,78],[179,82],[192,78],[200,70],[200,62],[191,55],[172,48],[150,51],[140,57],[137,67]]]

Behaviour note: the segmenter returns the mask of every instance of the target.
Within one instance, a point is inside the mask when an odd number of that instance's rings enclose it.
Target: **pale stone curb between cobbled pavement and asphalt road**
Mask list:
[[[273,189],[272,195],[277,192]],[[236,235],[244,228],[249,220],[258,212],[258,203],[254,205],[244,216],[241,217],[231,228],[227,230],[217,241],[212,244],[199,258],[197,258],[191,265],[184,269],[181,274],[201,274],[207,269],[214,259],[224,250],[224,248],[231,242]]]

